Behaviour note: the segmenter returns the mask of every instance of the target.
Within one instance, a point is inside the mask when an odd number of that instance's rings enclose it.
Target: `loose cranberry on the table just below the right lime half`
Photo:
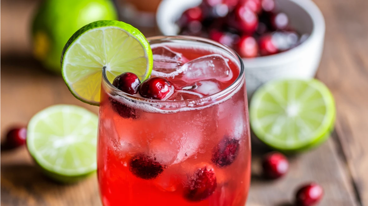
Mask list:
[[[279,152],[271,152],[265,155],[262,162],[263,174],[270,179],[284,176],[289,170],[289,162]]]

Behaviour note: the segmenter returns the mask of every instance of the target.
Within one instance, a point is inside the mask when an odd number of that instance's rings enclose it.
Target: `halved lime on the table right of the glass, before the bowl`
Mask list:
[[[256,136],[285,152],[321,144],[332,132],[335,118],[333,96],[316,79],[266,83],[250,103],[250,123]]]

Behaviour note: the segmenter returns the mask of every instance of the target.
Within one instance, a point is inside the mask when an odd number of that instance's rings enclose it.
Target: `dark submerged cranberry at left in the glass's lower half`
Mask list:
[[[139,153],[129,163],[129,170],[137,177],[150,180],[155,179],[163,172],[164,166],[156,158]]]

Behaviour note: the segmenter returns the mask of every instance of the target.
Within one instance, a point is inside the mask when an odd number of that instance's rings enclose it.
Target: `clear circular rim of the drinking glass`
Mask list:
[[[211,44],[212,46],[215,46],[216,48],[219,48],[223,51],[226,51],[228,54],[230,54],[231,56],[234,57],[234,60],[237,61],[237,62],[234,62],[234,63],[237,63],[239,68],[240,68],[239,75],[234,80],[234,82],[231,83],[224,90],[221,90],[221,91],[219,91],[215,94],[208,95],[206,97],[195,98],[195,99],[191,99],[191,100],[179,100],[179,101],[152,100],[152,99],[148,99],[148,98],[144,98],[144,97],[138,97],[138,96],[131,95],[131,94],[128,94],[128,93],[124,93],[123,91],[121,91],[118,88],[116,88],[115,86],[113,86],[113,84],[107,78],[106,67],[104,66],[103,69],[102,69],[102,81],[105,83],[105,85],[107,87],[109,87],[110,90],[112,90],[117,95],[119,95],[121,97],[125,97],[129,100],[132,100],[132,101],[141,101],[141,102],[146,102],[148,104],[153,103],[153,104],[164,105],[164,104],[183,104],[184,103],[185,105],[187,105],[186,104],[187,102],[195,101],[196,103],[201,103],[201,102],[215,100],[217,98],[223,97],[224,95],[230,94],[231,91],[233,91],[234,88],[237,88],[237,86],[240,86],[239,84],[241,84],[242,80],[245,78],[244,77],[244,63],[243,63],[243,60],[241,59],[241,57],[232,48],[230,48],[226,45],[220,44],[217,41],[206,39],[206,38],[203,38],[203,37],[183,36],[183,35],[153,36],[153,37],[148,37],[147,40],[148,40],[148,42],[153,41],[153,40],[184,40],[184,41],[195,41],[195,42],[204,43],[204,44]]]

